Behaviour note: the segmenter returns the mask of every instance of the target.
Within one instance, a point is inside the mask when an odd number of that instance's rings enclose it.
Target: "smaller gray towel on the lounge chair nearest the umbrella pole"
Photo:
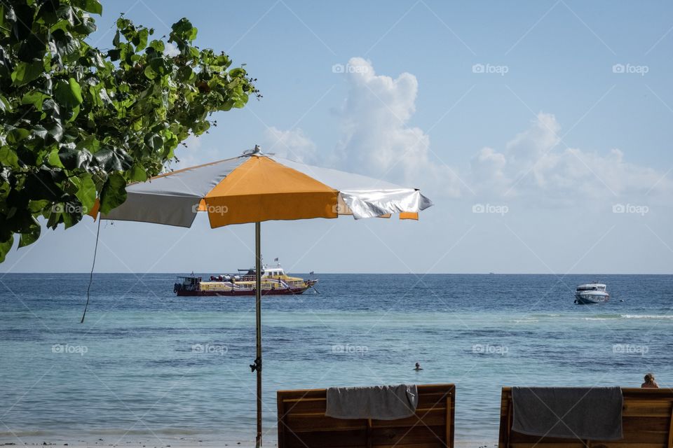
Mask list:
[[[414,415],[418,404],[416,384],[330,387],[325,415],[335,419],[396,420]]]

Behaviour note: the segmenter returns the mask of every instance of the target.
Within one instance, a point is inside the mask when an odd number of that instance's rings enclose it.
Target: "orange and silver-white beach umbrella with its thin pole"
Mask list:
[[[132,183],[127,199],[102,219],[189,228],[202,211],[211,228],[254,223],[257,356],[257,446],[261,446],[261,223],[308,218],[418,219],[433,203],[416,188],[314,167],[261,153],[259,146],[219,160]]]

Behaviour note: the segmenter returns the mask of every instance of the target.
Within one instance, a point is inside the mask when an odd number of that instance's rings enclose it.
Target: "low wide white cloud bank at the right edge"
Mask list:
[[[565,203],[583,199],[654,197],[671,191],[671,181],[655,169],[606,154],[564,148],[555,116],[539,113],[529,130],[505,144],[502,153],[485,148],[470,163],[470,180],[480,193],[537,197]]]

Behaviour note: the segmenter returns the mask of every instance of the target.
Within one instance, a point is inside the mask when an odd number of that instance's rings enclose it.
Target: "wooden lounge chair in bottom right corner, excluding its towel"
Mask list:
[[[622,388],[623,439],[578,440],[512,431],[512,388],[503,387],[498,448],[673,448],[673,390]]]

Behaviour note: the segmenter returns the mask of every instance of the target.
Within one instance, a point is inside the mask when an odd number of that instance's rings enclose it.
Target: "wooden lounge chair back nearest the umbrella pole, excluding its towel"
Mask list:
[[[454,446],[454,384],[418,386],[416,415],[399,420],[325,416],[326,389],[278,391],[278,448]]]

